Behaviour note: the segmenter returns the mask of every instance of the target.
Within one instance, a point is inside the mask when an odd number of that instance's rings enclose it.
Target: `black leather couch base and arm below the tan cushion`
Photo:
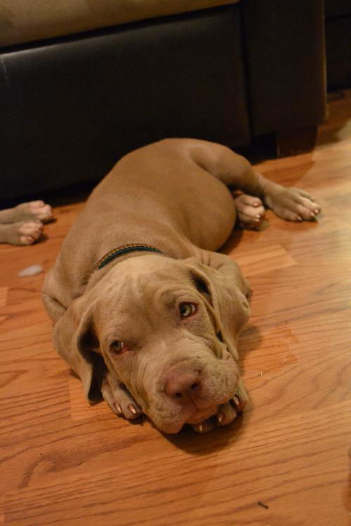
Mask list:
[[[3,201],[100,180],[162,137],[306,149],[325,115],[322,0],[242,0],[21,44],[0,65]]]

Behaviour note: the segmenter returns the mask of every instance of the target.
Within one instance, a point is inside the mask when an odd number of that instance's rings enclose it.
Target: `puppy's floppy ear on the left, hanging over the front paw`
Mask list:
[[[100,385],[107,368],[99,354],[93,327],[93,307],[87,298],[75,299],[53,328],[55,349],[80,377],[90,403],[102,400]]]

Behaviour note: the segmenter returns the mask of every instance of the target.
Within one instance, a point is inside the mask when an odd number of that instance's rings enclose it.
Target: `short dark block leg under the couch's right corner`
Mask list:
[[[295,130],[284,130],[275,133],[275,151],[277,157],[301,154],[314,148],[317,137],[317,126],[305,126]]]

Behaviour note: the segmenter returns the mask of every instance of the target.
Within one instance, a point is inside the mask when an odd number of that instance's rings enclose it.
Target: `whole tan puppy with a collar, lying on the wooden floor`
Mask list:
[[[164,433],[234,420],[248,400],[237,342],[251,290],[216,250],[236,222],[257,227],[264,205],[291,221],[320,212],[204,140],[142,147],[95,187],[43,286],[55,349],[90,403]]]

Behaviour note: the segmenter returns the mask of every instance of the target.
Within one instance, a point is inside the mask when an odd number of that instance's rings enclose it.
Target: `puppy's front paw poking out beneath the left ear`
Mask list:
[[[133,396],[110,373],[102,380],[102,396],[115,414],[134,420],[142,416],[143,411]]]

